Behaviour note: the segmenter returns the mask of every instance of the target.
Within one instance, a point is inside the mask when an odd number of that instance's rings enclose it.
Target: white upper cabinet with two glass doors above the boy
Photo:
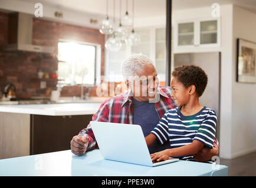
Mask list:
[[[220,48],[219,18],[175,22],[174,53],[219,51]]]

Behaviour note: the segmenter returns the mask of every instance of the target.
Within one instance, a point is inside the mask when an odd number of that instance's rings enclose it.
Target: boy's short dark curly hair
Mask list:
[[[208,77],[204,70],[196,65],[176,66],[172,72],[172,76],[175,76],[185,88],[195,85],[196,93],[199,97],[204,93],[208,82]]]

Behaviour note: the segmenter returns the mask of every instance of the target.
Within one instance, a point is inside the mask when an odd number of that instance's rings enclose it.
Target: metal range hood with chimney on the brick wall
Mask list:
[[[2,49],[5,51],[54,53],[54,47],[32,45],[33,15],[14,12],[8,16],[8,44],[1,46]]]

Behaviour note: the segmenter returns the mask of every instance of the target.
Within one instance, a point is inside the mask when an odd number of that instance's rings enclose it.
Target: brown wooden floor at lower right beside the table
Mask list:
[[[220,159],[228,166],[228,176],[256,176],[256,152],[235,159]]]

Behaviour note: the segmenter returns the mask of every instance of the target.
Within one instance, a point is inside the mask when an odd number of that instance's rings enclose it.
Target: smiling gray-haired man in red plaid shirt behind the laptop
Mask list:
[[[121,95],[105,100],[99,110],[93,115],[93,121],[127,123],[140,125],[146,137],[157,125],[169,109],[176,108],[171,98],[170,87],[158,86],[157,72],[151,59],[142,54],[134,54],[122,63],[122,74],[129,90]],[[96,139],[90,124],[80,133],[86,134],[86,139],[74,136],[71,140],[71,152],[81,155],[97,148]],[[132,138],[131,138],[132,139]],[[218,141],[215,139],[213,149],[204,147],[194,160],[205,162],[218,155]],[[149,152],[155,153],[170,148],[168,142],[160,145],[155,141]]]

